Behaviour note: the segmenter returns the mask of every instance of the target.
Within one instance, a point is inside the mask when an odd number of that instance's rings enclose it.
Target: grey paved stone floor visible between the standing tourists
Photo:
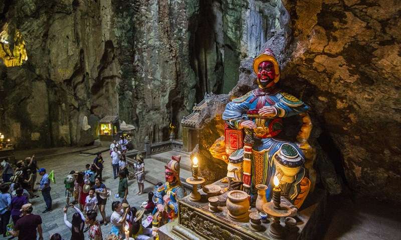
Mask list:
[[[30,154],[32,154],[32,152]],[[115,200],[114,194],[116,193],[118,188],[118,179],[115,180],[113,179],[110,158],[107,156],[107,154],[104,155],[106,155],[106,157],[104,156],[105,159],[105,168],[103,170],[103,178],[105,179],[104,183],[106,184],[107,187],[112,189],[112,196],[109,197],[106,205],[106,215],[108,218],[110,218],[110,215],[112,213],[111,202]],[[93,158],[94,158],[93,155],[84,156],[80,155],[79,152],[75,152],[75,153],[65,153],[62,155],[45,157],[43,159],[38,160],[39,167],[45,167],[48,172],[54,170],[56,177],[56,183],[51,184],[53,211],[42,213],[42,211],[45,209],[45,202],[40,192],[37,193],[38,195],[40,195],[40,197],[31,200],[34,206],[34,213],[40,214],[42,216],[44,239],[50,239],[50,236],[56,232],[60,233],[65,240],[70,239],[71,230],[64,224],[64,218],[63,218],[64,217],[63,207],[66,204],[64,195],[65,188],[63,180],[70,170],[84,170],[85,165],[87,163],[93,163]],[[40,176],[38,174],[38,181],[39,180]],[[145,181],[144,184],[145,184],[145,192],[153,190],[152,184],[148,183],[147,181]],[[129,180],[128,185],[129,185],[129,190],[128,190],[127,200],[131,206],[135,206],[138,208],[140,207],[143,201],[147,200],[147,193],[142,195],[135,194],[138,190],[138,185],[136,183],[136,180]],[[72,218],[72,214],[74,212],[75,211],[72,209],[69,209],[68,211],[68,219],[70,221]],[[100,213],[98,214],[98,219],[101,219]],[[107,226],[102,225],[101,228],[103,231],[103,236],[106,237],[110,231],[111,224],[108,224]],[[86,235],[85,239],[88,239],[87,233],[85,233],[85,235]],[[7,239],[7,238],[0,237],[0,239]]]

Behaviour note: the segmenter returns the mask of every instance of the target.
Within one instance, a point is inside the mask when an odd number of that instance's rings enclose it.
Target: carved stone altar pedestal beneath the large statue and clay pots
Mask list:
[[[220,181],[214,184],[226,187]],[[179,200],[178,218],[174,221],[160,227],[160,240],[193,240],[193,239],[233,239],[233,240],[268,240],[275,239],[269,235],[270,224],[273,223],[273,218],[268,218],[268,222],[261,223],[262,230],[254,231],[250,227],[249,222],[237,222],[231,220],[227,215],[227,207],[219,206],[221,211],[209,211],[209,203],[206,199],[206,194],[200,190],[202,199],[197,202],[190,201],[186,196]],[[318,232],[319,222],[324,220],[324,212],[326,205],[326,192],[322,189],[315,189],[310,193],[303,204],[303,207],[298,211],[297,220],[294,229],[288,230],[284,239],[313,239]],[[250,212],[257,211],[256,208],[251,208]],[[281,219],[282,226],[285,225],[284,219]],[[294,234],[294,230],[295,233]]]

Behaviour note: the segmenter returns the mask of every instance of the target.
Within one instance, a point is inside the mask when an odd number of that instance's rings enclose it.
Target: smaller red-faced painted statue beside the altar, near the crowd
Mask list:
[[[164,166],[164,174],[166,182],[157,188],[154,193],[156,202],[156,208],[158,212],[153,217],[153,233],[156,236],[158,227],[161,226],[160,219],[158,219],[158,213],[166,216],[166,219],[162,219],[162,222],[172,221],[177,217],[178,214],[178,199],[186,195],[185,187],[181,184],[179,179],[179,161],[181,156],[171,156],[171,160]]]

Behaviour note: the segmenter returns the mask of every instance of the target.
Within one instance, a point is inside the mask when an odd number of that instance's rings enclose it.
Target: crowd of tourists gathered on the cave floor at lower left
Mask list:
[[[85,239],[85,232],[91,240],[124,239],[127,234],[134,239],[148,239],[152,233],[152,215],[155,209],[153,192],[148,200],[131,205],[127,201],[128,175],[136,178],[138,191],[144,193],[145,164],[142,155],[136,156],[133,172],[128,170],[126,159],[128,141],[121,138],[110,144],[110,163],[114,179],[118,178],[118,191],[111,195],[111,189],[103,182],[102,171],[105,166],[101,152],[96,153],[93,163],[86,164],[84,170],[71,170],[64,178],[66,206],[64,223],[71,229],[72,240]],[[33,214],[30,199],[38,197],[41,191],[46,208],[42,213],[52,211],[51,179],[45,168],[39,168],[35,155],[17,161],[15,169],[7,161],[2,162],[2,184],[0,185],[0,234],[9,239],[43,239],[42,218]],[[36,188],[37,172],[41,175]],[[158,185],[161,185],[159,183]],[[156,185],[156,186],[158,186]],[[111,215],[106,217],[106,203],[113,198]],[[68,210],[73,211],[68,219]],[[110,213],[109,212],[109,213]],[[98,220],[98,213],[100,217]],[[146,216],[146,214],[149,214]],[[10,223],[10,219],[12,219]],[[103,238],[101,226],[111,224],[111,231]],[[24,230],[22,230],[24,229]],[[28,230],[29,229],[29,230]],[[52,240],[65,239],[60,233],[51,236]]]

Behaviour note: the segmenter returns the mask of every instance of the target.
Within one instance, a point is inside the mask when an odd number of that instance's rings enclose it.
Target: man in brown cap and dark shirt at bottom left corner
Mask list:
[[[33,214],[32,210],[31,203],[22,205],[22,217],[17,221],[14,230],[9,231],[11,235],[18,236],[19,240],[37,239],[37,231],[39,240],[43,240],[42,218],[40,215]]]

